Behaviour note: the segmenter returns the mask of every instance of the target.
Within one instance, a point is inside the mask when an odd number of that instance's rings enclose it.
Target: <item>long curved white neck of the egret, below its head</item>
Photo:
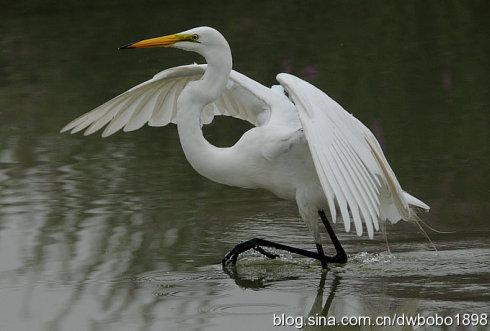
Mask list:
[[[190,83],[177,103],[177,129],[185,156],[192,167],[201,175],[223,184],[234,185],[229,162],[233,162],[230,148],[211,145],[203,136],[201,112],[203,108],[221,95],[232,67],[231,51],[219,48],[204,54],[208,63],[199,81]]]

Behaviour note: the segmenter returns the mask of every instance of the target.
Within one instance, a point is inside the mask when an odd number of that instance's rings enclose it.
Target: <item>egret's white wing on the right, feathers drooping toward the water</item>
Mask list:
[[[350,219],[372,238],[379,221],[408,220],[410,209],[374,135],[324,92],[289,74],[277,80],[298,109],[332,219],[336,205],[346,231]]]

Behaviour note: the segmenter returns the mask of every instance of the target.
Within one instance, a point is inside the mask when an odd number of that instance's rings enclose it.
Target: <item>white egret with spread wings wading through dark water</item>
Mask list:
[[[270,88],[232,69],[227,40],[216,29],[197,27],[144,39],[120,49],[177,48],[195,52],[205,64],[182,65],[157,73],[68,123],[61,132],[82,130],[102,137],[119,130],[177,125],[185,157],[202,176],[224,185],[264,189],[294,201],[316,251],[264,238],[234,246],[222,259],[235,265],[255,250],[277,258],[284,250],[329,263],[347,262],[347,253],[330,224],[373,238],[380,224],[417,220],[429,206],[405,192],[373,133],[311,83],[279,73]],[[230,147],[209,143],[203,125],[214,116],[232,116],[253,127]],[[319,220],[335,248],[323,250]]]

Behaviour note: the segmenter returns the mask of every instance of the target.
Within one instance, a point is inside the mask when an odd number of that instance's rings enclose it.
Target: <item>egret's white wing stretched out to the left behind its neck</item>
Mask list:
[[[162,71],[68,123],[61,132],[85,129],[84,134],[89,135],[107,125],[102,133],[107,137],[120,129],[137,130],[145,123],[150,126],[176,123],[180,93],[189,82],[201,79],[205,69],[206,65],[194,64]],[[204,109],[201,123],[211,122],[214,115],[226,115],[263,125],[270,114],[266,90],[265,86],[232,71],[221,97]]]

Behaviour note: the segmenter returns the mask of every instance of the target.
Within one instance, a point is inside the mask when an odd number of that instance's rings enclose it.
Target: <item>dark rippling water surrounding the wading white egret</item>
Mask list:
[[[488,4],[305,6],[2,5],[1,330],[268,330],[283,313],[489,312]],[[453,232],[430,233],[439,252],[411,224],[388,227],[392,255],[382,235],[339,227],[345,266],[248,254],[223,270],[227,250],[252,237],[313,249],[295,205],[200,177],[175,126],[58,133],[155,72],[200,61],[118,46],[203,24],[226,35],[235,69],[267,85],[292,72],[366,123],[404,188],[432,206],[424,220]],[[246,129],[219,119],[206,135],[225,146]]]

